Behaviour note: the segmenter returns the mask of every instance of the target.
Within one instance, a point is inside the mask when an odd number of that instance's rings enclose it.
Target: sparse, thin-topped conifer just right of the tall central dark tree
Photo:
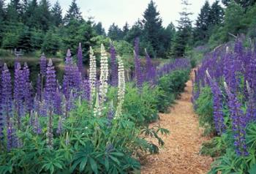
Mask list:
[[[173,56],[184,56],[187,46],[191,42],[192,36],[192,22],[189,16],[192,15],[188,12],[188,6],[190,5],[187,0],[182,0],[181,4],[184,6],[182,12],[180,12],[181,18],[178,20],[178,31],[173,43]]]

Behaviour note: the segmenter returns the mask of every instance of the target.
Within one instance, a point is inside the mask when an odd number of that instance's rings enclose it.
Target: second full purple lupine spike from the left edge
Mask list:
[[[24,77],[20,63],[16,65],[14,81],[14,102],[16,113],[18,115],[18,129],[20,129],[20,119],[24,115]]]

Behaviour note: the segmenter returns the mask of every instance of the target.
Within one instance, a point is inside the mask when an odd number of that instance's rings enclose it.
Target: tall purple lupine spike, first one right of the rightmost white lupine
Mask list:
[[[140,66],[140,55],[139,55],[139,38],[135,39],[135,77],[136,77],[136,86],[138,87],[139,91],[141,91],[143,86],[143,76],[142,70]]]

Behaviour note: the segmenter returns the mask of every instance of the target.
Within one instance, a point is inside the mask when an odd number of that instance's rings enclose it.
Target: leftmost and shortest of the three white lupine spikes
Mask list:
[[[94,50],[90,47],[90,68],[89,68],[89,83],[91,88],[91,99],[94,97],[96,90],[96,80],[97,80],[97,67],[96,58],[94,56]]]

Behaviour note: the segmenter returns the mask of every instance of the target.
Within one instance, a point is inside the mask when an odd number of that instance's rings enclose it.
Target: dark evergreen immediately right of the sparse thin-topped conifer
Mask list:
[[[210,4],[208,1],[206,1],[206,3],[201,8],[200,14],[198,15],[195,23],[194,37],[196,42],[199,41],[200,43],[203,43],[208,40],[208,29],[211,25],[210,12]]]

